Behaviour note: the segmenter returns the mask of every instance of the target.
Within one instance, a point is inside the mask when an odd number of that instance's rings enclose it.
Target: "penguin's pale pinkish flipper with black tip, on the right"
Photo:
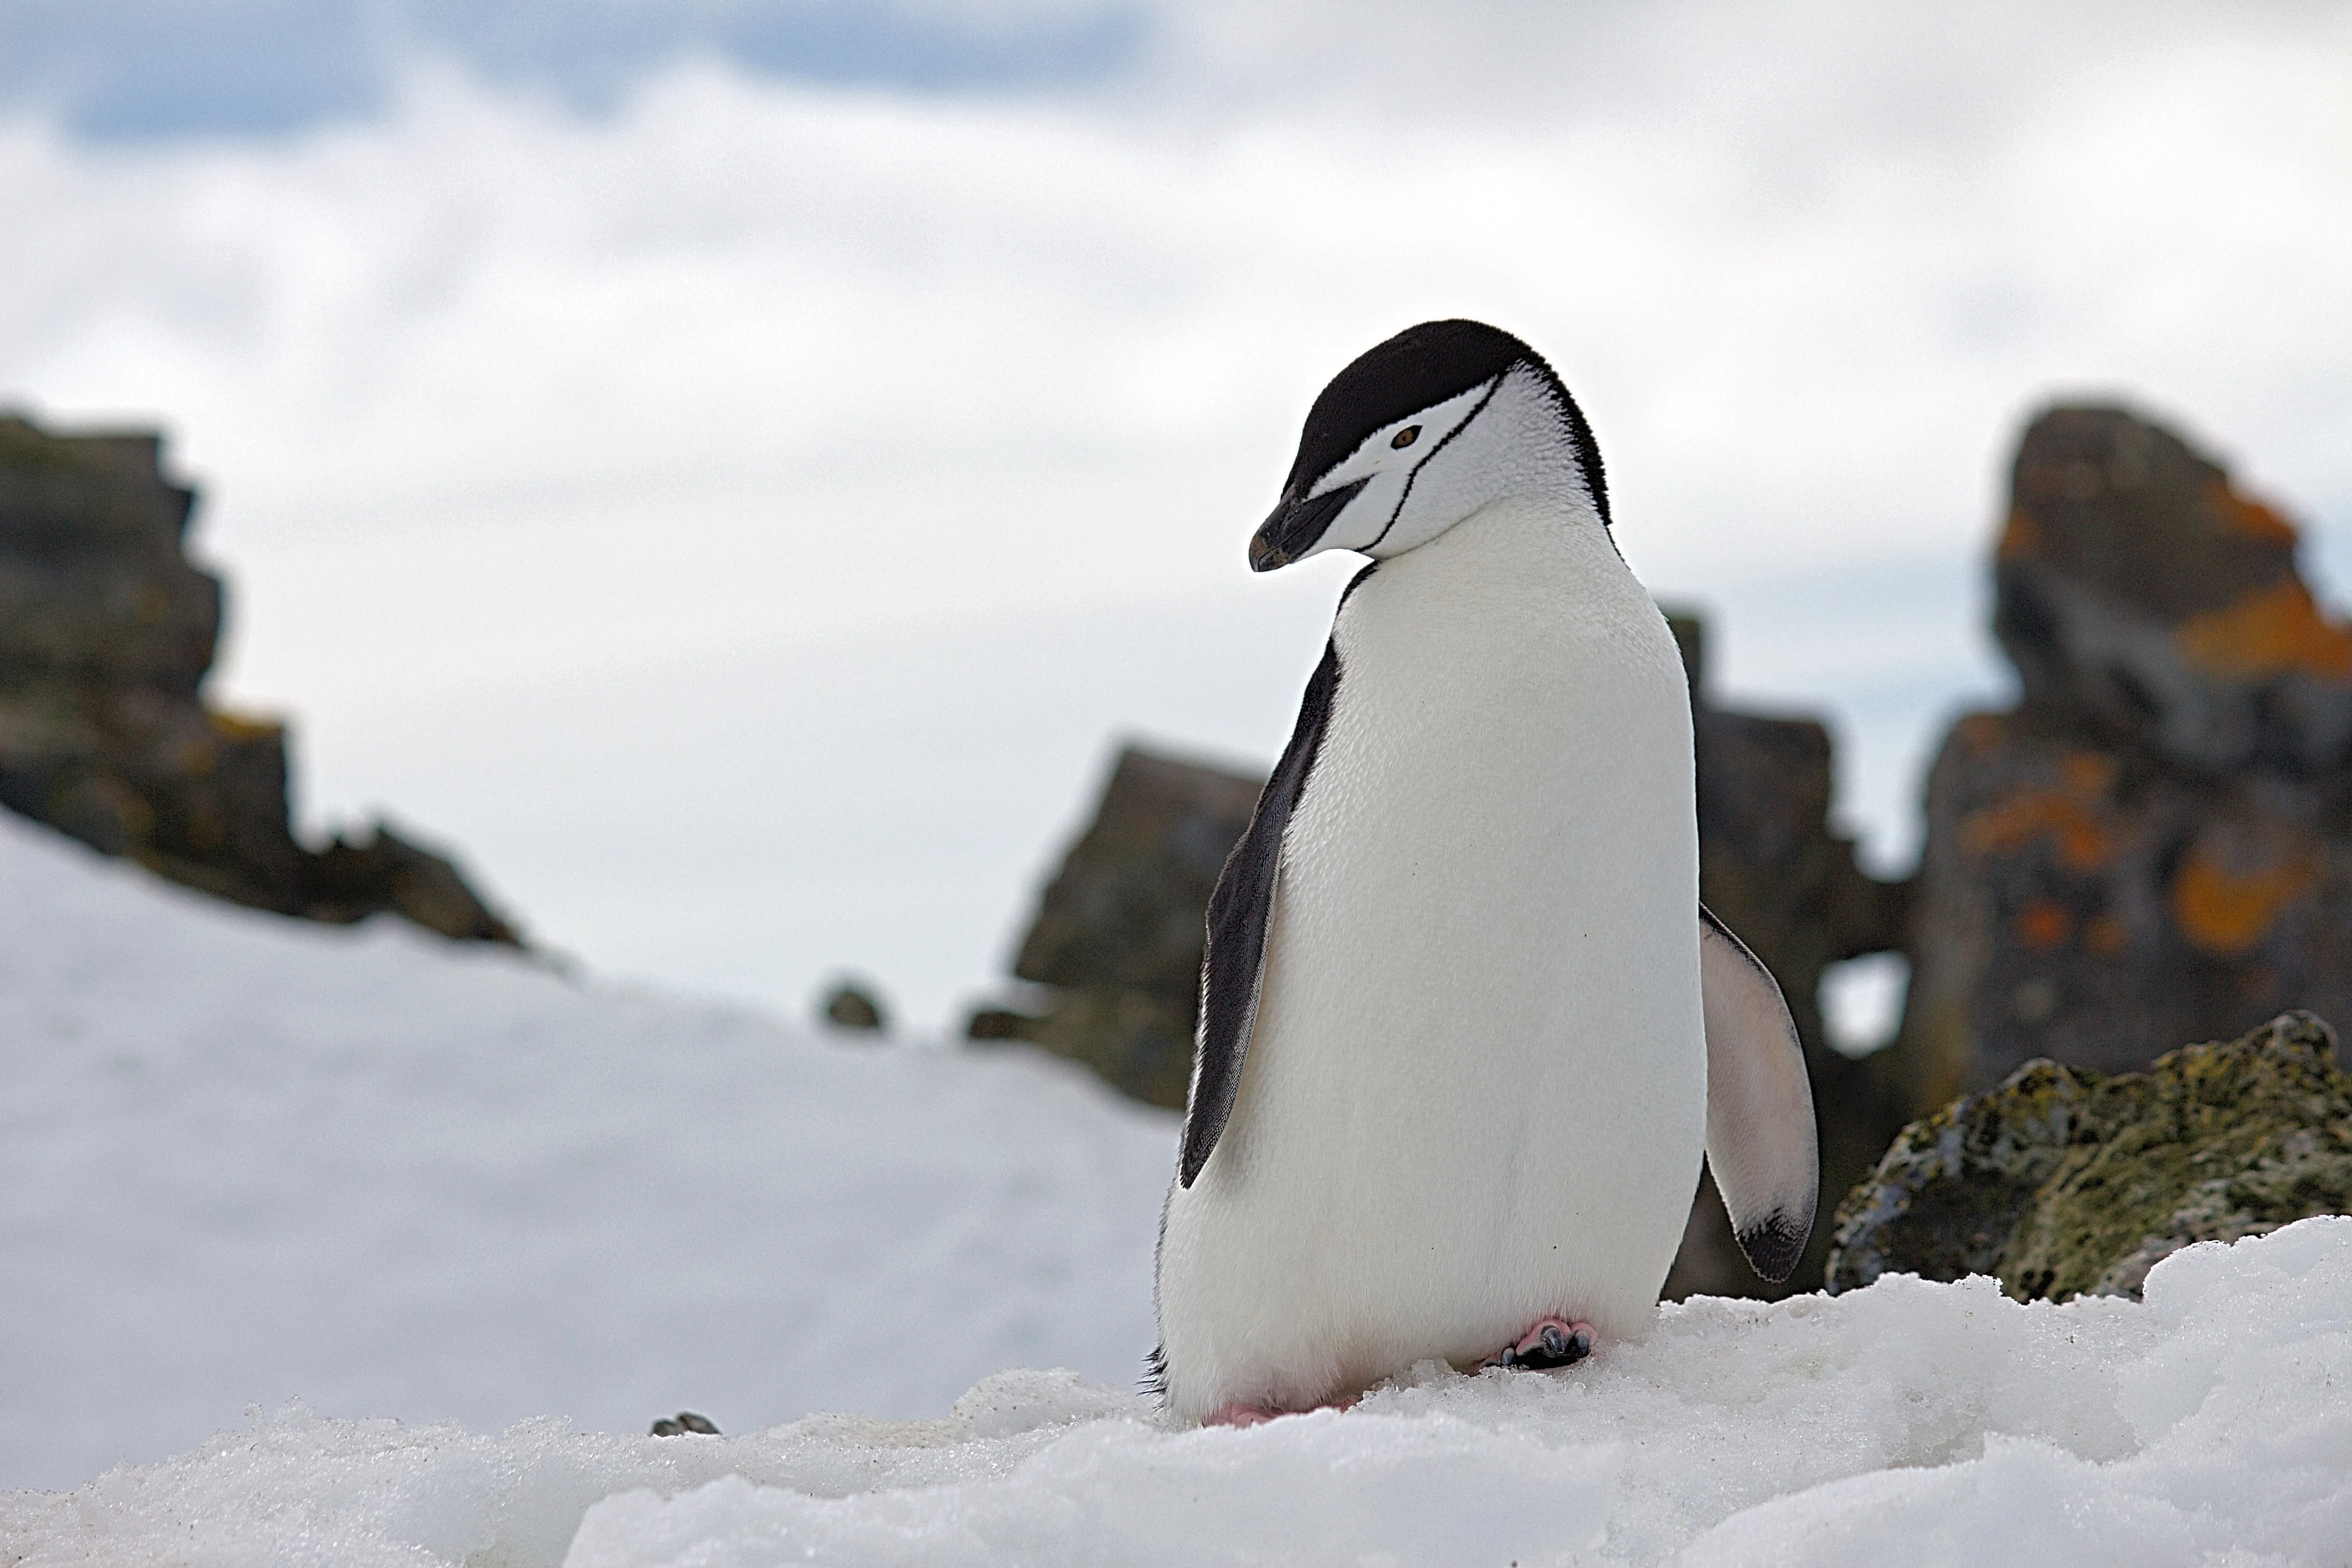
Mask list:
[[[1708,1168],[1748,1265],[1778,1284],[1813,1234],[1820,1147],[1804,1046],[1780,985],[1698,905],[1698,985],[1708,1016]]]

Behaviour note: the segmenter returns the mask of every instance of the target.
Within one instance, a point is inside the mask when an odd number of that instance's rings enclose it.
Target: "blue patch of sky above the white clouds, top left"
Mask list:
[[[1037,92],[1136,54],[1124,0],[12,0],[0,106],[80,136],[285,136],[383,113],[442,59],[602,113],[680,59],[809,82]]]

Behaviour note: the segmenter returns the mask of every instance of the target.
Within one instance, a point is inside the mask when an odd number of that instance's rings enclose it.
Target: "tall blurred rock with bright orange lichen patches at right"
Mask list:
[[[2352,1011],[2352,628],[2296,531],[2124,409],[2042,414],[1994,552],[2006,712],[1926,792],[1912,1112],[2027,1058],[2117,1072],[2288,1006]]]

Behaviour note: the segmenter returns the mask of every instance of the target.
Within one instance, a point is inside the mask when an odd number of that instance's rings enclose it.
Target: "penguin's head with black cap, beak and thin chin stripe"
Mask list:
[[[1489,501],[1562,484],[1609,527],[1592,428],[1543,355],[1484,322],[1421,322],[1367,350],[1308,409],[1249,567],[1322,550],[1402,555]]]

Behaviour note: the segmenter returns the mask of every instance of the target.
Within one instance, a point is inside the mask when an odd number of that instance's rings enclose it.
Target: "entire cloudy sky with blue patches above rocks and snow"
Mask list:
[[[1917,844],[2023,421],[2352,583],[2352,7],[0,0],[0,404],[143,423],[214,696],[595,973],[955,1027],[1124,738],[1263,766],[1315,390],[1477,315],[1717,691]]]

